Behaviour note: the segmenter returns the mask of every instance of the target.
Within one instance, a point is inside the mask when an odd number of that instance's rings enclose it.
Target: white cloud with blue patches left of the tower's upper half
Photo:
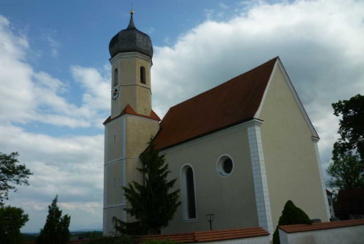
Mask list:
[[[44,36],[55,48],[59,43]],[[74,83],[67,83],[43,71],[35,72],[26,62],[27,40],[12,32],[10,22],[0,19],[0,121],[29,123],[38,121],[70,128],[95,126],[100,116],[106,117],[110,107],[109,77],[95,68],[73,66]],[[56,50],[56,49],[55,49]],[[65,94],[81,86],[82,104],[70,103]],[[102,124],[97,125],[99,128]]]

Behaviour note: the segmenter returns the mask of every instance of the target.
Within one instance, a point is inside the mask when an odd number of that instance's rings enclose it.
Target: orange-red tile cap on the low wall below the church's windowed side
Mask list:
[[[269,235],[261,227],[253,228],[240,228],[240,229],[224,229],[224,230],[211,230],[211,231],[197,231],[183,234],[163,234],[163,235],[145,235],[136,237],[136,241],[144,242],[148,239],[155,240],[172,240],[175,242],[203,242],[203,241],[215,241],[226,239],[237,239],[254,236]]]

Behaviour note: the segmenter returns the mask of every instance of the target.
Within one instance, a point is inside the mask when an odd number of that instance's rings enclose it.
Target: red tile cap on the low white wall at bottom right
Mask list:
[[[364,219],[313,223],[311,225],[310,224],[282,225],[282,226],[279,226],[279,228],[287,233],[294,233],[294,232],[302,232],[302,231],[310,231],[310,230],[348,227],[348,226],[355,226],[355,225],[364,225]]]

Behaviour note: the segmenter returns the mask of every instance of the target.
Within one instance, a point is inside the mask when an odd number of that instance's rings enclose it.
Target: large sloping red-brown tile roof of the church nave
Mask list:
[[[278,58],[171,107],[160,123],[156,148],[165,149],[253,118]]]

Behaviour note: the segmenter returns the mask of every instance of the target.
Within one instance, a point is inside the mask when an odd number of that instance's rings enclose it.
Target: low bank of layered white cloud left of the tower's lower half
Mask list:
[[[34,173],[29,186],[18,187],[8,204],[22,207],[30,221],[24,231],[44,224],[47,206],[59,195],[64,213],[72,216],[71,229],[82,219],[100,227],[103,197],[103,135],[54,138],[27,133],[10,124],[0,126],[0,148],[21,152],[19,161]],[[80,203],[80,204],[76,204]],[[61,208],[62,209],[62,208]],[[78,226],[78,227],[77,227]]]

